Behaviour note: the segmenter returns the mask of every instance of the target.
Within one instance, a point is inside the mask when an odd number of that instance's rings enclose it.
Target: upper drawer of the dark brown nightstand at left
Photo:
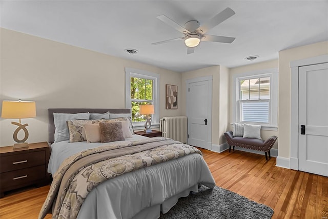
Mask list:
[[[9,172],[12,170],[19,170],[28,167],[34,167],[38,165],[44,165],[46,163],[46,152],[35,151],[25,154],[16,154],[1,157],[0,172]]]

